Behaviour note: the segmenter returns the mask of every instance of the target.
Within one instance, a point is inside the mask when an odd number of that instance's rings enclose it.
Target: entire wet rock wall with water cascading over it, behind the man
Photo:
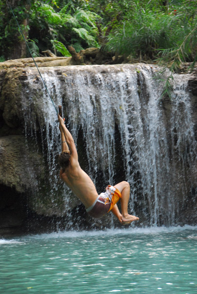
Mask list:
[[[142,225],[194,224],[196,76],[175,74],[171,98],[160,98],[157,66],[62,66],[66,58],[48,65],[49,58],[37,58],[39,67],[45,65],[40,72],[55,105],[63,105],[80,165],[98,192],[127,180],[130,209]],[[0,227],[24,227],[24,221],[29,228],[114,225],[110,215],[91,220],[60,181],[56,111],[32,66],[29,59],[0,64]]]

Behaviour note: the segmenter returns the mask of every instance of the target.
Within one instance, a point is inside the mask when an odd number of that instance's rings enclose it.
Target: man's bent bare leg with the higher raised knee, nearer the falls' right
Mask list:
[[[125,223],[125,222],[139,220],[139,218],[128,214],[128,200],[130,197],[129,183],[126,181],[123,181],[121,183],[118,183],[114,187],[117,188],[121,192],[121,195],[122,195],[122,198],[121,198],[122,222]]]

